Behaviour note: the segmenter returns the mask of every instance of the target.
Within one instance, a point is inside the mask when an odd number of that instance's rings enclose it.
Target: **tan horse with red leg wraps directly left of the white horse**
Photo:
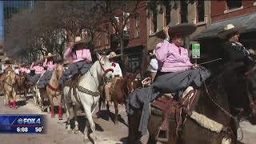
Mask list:
[[[46,86],[46,89],[39,90],[40,91],[40,97],[41,97],[41,110],[44,110],[44,98],[47,95],[48,100],[50,101],[50,112],[51,112],[51,117],[55,117],[54,113],[54,102],[53,98],[57,98],[58,100],[58,118],[62,120],[62,90],[58,86],[58,80],[62,76],[64,72],[63,69],[63,64],[58,64],[55,66],[54,72],[50,78],[50,82]],[[49,111],[49,106],[48,106],[48,111]]]

